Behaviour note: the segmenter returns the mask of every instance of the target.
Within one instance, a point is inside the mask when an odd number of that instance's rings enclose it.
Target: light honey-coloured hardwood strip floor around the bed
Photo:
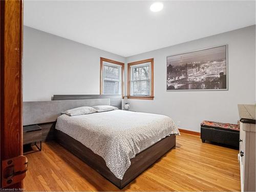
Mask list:
[[[240,191],[237,150],[202,143],[181,133],[176,147],[146,169],[124,191]],[[120,190],[55,142],[26,155],[27,191]]]

